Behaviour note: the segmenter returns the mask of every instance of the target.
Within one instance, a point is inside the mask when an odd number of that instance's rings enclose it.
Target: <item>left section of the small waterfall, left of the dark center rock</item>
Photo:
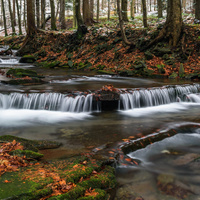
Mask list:
[[[56,110],[91,112],[93,95],[72,97],[61,93],[0,94],[0,109]]]

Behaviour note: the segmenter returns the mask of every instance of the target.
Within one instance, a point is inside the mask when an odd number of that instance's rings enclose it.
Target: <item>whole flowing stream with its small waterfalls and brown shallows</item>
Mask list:
[[[0,59],[0,68],[31,67],[18,59]],[[12,86],[0,82],[0,135],[49,139],[63,143],[46,159],[64,158],[123,139],[176,134],[124,153],[116,165],[115,199],[200,199],[200,83],[95,75],[33,68],[47,83]],[[118,110],[101,111],[94,90],[119,89]]]

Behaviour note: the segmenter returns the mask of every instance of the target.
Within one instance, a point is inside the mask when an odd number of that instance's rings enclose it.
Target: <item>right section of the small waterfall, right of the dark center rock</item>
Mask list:
[[[197,102],[197,99],[200,101],[200,96],[195,95],[194,97],[192,94],[199,92],[200,84],[129,90],[126,93],[120,94],[119,109],[128,110],[158,106],[177,101]]]

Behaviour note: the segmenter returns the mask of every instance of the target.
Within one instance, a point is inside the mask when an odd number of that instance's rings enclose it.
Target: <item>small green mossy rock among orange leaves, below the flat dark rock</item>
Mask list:
[[[20,157],[26,156],[27,159],[36,159],[36,160],[44,156],[41,153],[37,153],[31,150],[19,150],[19,149],[11,151],[9,154],[13,156],[20,156]]]

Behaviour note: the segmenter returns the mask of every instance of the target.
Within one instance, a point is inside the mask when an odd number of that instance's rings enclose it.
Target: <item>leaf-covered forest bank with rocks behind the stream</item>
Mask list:
[[[102,20],[88,28],[81,39],[76,30],[45,31],[35,36],[34,48],[26,54],[35,57],[38,66],[66,68],[78,71],[97,71],[122,76],[159,78],[200,78],[200,25],[191,15],[184,17],[184,31],[176,48],[161,41],[151,49],[143,47],[153,40],[162,28],[164,19],[149,16],[149,28],[142,28],[142,18],[136,17],[125,25],[125,32],[134,48],[126,46],[121,38],[118,19]],[[70,29],[72,20],[67,21]],[[21,36],[3,38],[2,44],[12,45]],[[20,48],[20,45],[15,45]]]

